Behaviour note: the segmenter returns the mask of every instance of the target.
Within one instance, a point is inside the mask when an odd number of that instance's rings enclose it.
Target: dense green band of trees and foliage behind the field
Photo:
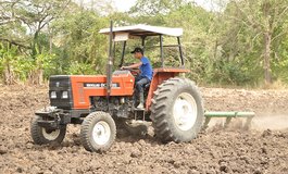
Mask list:
[[[137,0],[128,12],[115,11],[111,1],[97,3],[1,1],[1,80],[41,84],[53,74],[104,73],[108,37],[98,32],[113,20],[117,26],[183,27],[186,66],[198,83],[288,83],[287,0],[215,0],[216,8],[210,11],[185,0]],[[150,39],[148,45],[156,41]],[[128,49],[140,42],[132,44]],[[148,55],[154,66],[160,64],[159,50],[151,49]],[[165,58],[176,61],[175,50],[166,48]]]

